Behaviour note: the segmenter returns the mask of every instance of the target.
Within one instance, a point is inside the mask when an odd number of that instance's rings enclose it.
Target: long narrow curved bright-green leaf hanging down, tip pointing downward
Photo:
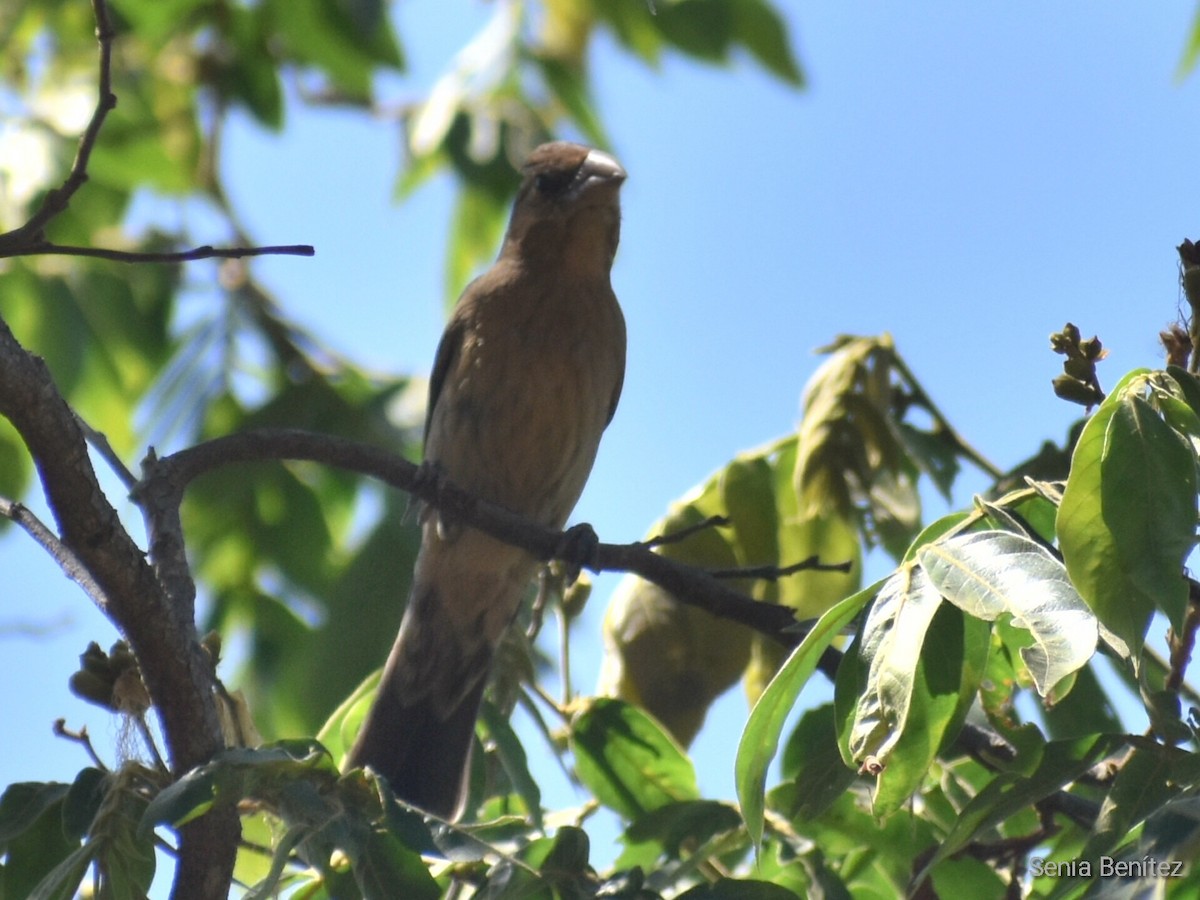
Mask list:
[[[763,794],[767,786],[767,768],[775,758],[779,738],[784,724],[800,690],[808,684],[809,677],[817,667],[821,654],[841,634],[859,611],[870,602],[878,584],[872,584],[853,596],[848,596],[822,616],[812,630],[804,637],[792,655],[787,658],[779,672],[758,697],[750,719],[746,721],[742,740],[738,743],[734,779],[738,800],[742,804],[742,816],[755,844],[762,841]]]

